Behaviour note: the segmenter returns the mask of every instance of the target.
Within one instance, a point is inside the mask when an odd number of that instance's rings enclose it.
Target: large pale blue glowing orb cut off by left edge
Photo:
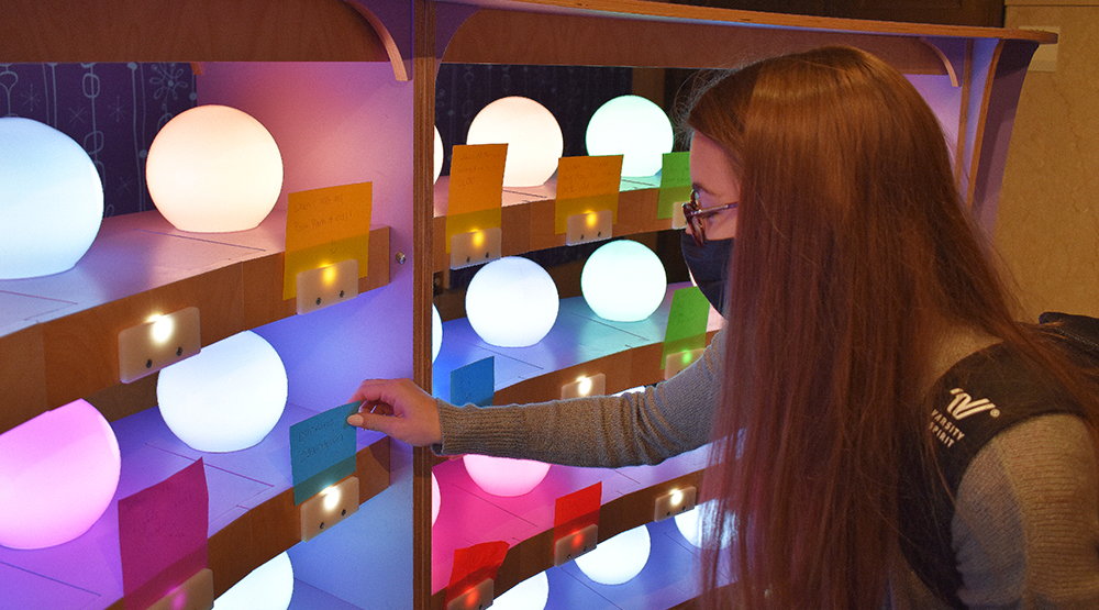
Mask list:
[[[0,279],[71,269],[103,220],[88,153],[45,123],[0,118]]]

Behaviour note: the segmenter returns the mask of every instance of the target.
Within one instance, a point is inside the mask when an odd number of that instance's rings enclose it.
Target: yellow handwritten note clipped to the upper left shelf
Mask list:
[[[298,274],[354,258],[367,274],[374,185],[291,192],[286,214],[282,299],[297,296]]]

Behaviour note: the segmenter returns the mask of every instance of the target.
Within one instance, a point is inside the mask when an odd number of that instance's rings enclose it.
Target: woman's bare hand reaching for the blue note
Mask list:
[[[355,401],[363,403],[347,418],[351,425],[415,446],[443,442],[435,399],[410,379],[367,379],[352,395]]]

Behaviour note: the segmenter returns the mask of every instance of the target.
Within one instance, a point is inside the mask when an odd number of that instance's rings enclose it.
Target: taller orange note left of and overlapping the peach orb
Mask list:
[[[466,144],[452,149],[446,252],[455,235],[500,226],[507,158],[507,144]]]

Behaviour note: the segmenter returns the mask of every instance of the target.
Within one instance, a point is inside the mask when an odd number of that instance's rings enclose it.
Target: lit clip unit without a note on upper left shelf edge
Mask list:
[[[136,381],[201,350],[197,307],[152,315],[119,331],[119,379],[123,384]]]

